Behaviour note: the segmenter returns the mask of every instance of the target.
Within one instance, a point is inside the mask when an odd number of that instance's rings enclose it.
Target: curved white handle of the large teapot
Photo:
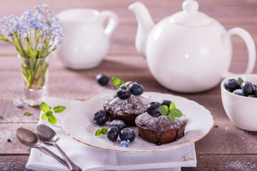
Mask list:
[[[230,46],[232,35],[237,35],[241,37],[246,43],[246,47],[248,50],[248,64],[244,73],[252,73],[256,63],[256,46],[254,44],[253,38],[251,37],[250,33],[248,33],[243,28],[231,28],[229,31],[226,32],[226,35],[223,39],[226,47]],[[226,71],[226,73],[223,74],[223,78],[233,75],[236,75],[236,73]]]

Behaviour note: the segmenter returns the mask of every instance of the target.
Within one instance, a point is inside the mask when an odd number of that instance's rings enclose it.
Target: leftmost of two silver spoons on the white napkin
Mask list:
[[[65,160],[56,155],[54,152],[51,152],[51,150],[47,149],[46,147],[40,146],[39,137],[30,130],[27,130],[25,128],[18,128],[16,130],[16,137],[18,138],[19,142],[21,142],[21,144],[26,145],[27,147],[39,148],[49,155],[53,156],[56,160],[61,162],[61,164],[69,168],[69,165],[67,165]]]

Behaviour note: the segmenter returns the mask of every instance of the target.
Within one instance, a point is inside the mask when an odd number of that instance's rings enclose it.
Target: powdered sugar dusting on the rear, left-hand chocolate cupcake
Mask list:
[[[119,113],[140,115],[146,112],[146,107],[149,103],[151,103],[151,99],[144,95],[131,95],[130,98],[125,100],[120,98],[106,100],[104,106],[112,110],[114,115]]]

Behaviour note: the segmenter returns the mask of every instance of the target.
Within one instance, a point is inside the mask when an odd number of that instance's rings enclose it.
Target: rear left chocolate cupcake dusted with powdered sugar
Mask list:
[[[104,110],[109,113],[109,120],[124,120],[127,126],[135,126],[136,117],[146,112],[150,102],[144,95],[131,95],[124,100],[113,98],[104,102]]]

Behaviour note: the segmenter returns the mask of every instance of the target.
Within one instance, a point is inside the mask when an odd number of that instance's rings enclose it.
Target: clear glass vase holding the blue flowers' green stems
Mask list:
[[[49,56],[44,58],[23,58],[21,63],[24,103],[31,106],[40,105],[46,99],[49,79]]]

